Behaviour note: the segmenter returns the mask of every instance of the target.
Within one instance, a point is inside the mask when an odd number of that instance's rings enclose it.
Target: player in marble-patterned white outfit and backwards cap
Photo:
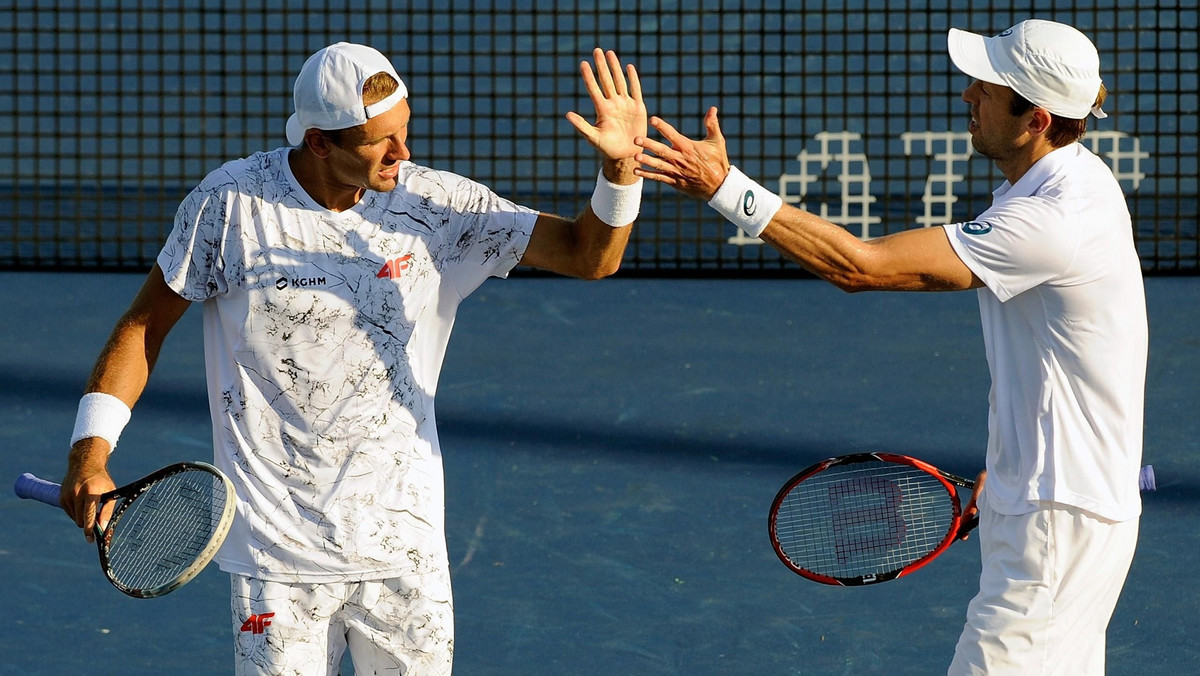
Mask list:
[[[360,44],[313,54],[289,146],[229,162],[179,207],[80,401],[64,508],[90,533],[107,459],[163,339],[204,311],[216,465],[238,492],[236,674],[449,674],[454,622],[433,396],[455,312],[517,264],[599,279],[620,264],[647,131],[632,66],[581,74],[600,152],[574,220],[410,161],[408,90]]]

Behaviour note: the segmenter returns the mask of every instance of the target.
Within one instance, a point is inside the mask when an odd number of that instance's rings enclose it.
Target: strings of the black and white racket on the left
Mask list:
[[[224,503],[224,481],[209,472],[180,472],[152,484],[113,526],[113,580],[134,590],[172,584],[208,549]]]

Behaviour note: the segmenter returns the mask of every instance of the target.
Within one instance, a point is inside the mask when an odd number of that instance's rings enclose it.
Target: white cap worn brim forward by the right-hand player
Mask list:
[[[950,60],[966,74],[1010,88],[1055,115],[1081,120],[1100,92],[1100,55],[1079,30],[1028,19],[996,37],[950,29]]]

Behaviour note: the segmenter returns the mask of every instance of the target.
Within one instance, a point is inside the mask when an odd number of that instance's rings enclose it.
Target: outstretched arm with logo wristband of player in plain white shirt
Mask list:
[[[706,137],[692,140],[660,118],[666,143],[638,138],[636,174],[708,202],[814,275],[845,291],[952,291],[982,286],[941,228],[902,231],[863,241],[845,228],[788,204],[730,164],[716,108]]]

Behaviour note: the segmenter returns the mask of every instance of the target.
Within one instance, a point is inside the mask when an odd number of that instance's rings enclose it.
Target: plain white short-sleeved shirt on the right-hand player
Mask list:
[[[1112,172],[1080,144],[1060,148],[997,189],[978,219],[943,227],[986,285],[989,504],[1138,516],[1146,299]]]

